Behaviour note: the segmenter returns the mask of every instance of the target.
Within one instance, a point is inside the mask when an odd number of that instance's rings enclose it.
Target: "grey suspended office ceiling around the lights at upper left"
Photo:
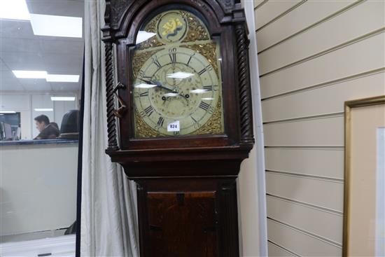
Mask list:
[[[84,1],[80,0],[29,0],[27,6],[29,13],[84,18]],[[83,38],[35,36],[27,20],[0,20],[0,91],[80,90],[83,46]],[[16,78],[13,70],[80,75],[80,79],[78,83],[62,83],[41,78]]]

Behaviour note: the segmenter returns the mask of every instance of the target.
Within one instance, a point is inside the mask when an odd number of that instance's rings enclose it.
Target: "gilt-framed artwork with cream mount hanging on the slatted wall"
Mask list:
[[[343,256],[385,256],[385,95],[345,102]]]

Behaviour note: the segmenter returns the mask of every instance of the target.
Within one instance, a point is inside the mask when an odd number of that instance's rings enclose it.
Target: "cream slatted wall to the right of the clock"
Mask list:
[[[269,256],[341,256],[344,102],[385,95],[385,1],[254,1]]]

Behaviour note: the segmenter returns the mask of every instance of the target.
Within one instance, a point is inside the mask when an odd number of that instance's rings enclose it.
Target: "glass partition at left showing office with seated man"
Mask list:
[[[83,17],[80,0],[0,1],[1,256],[75,255]]]

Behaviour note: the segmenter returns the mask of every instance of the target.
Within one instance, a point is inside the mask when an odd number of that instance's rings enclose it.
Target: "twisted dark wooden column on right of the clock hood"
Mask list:
[[[235,27],[235,34],[237,37],[241,143],[253,144],[253,107],[251,104],[250,71],[248,68],[248,39],[243,24]]]

